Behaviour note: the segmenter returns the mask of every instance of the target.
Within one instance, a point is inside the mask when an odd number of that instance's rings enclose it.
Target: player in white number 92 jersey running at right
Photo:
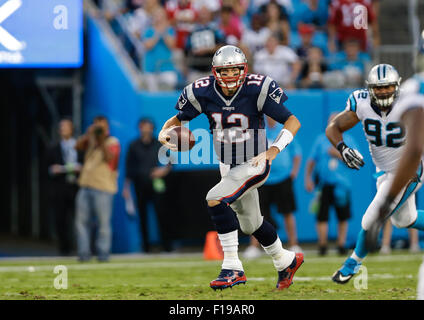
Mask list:
[[[362,260],[368,254],[367,232],[378,220],[379,207],[385,199],[403,152],[406,131],[400,122],[401,110],[396,106],[400,81],[401,78],[393,66],[374,66],[366,81],[367,89],[354,91],[348,98],[346,109],[326,129],[328,139],[339,150],[346,165],[352,169],[360,169],[364,165],[363,157],[343,142],[343,132],[361,122],[377,176],[377,193],[363,215],[355,249],[343,266],[333,274],[332,279],[337,283],[347,283],[358,272]],[[417,170],[417,177],[421,178],[422,175],[421,165]],[[396,205],[392,208],[390,218],[396,227],[424,229],[420,224],[415,224],[418,221],[415,192],[420,186],[419,180],[415,180],[395,199]]]

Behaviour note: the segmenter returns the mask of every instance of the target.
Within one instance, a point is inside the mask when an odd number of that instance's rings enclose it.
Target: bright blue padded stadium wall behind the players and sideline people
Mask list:
[[[137,121],[142,116],[152,118],[157,124],[156,134],[163,122],[176,113],[174,105],[178,99],[178,92],[161,92],[158,94],[139,92],[134,89],[127,76],[125,68],[119,62],[119,56],[110,40],[102,33],[100,26],[88,18],[88,62],[85,79],[85,94],[83,107],[83,127],[86,128],[97,114],[106,115],[110,119],[111,133],[116,136],[122,147],[120,161],[119,192],[115,196],[113,211],[113,247],[115,253],[137,252],[140,248],[140,236],[137,217],[128,216],[121,196],[124,181],[124,159],[129,142],[137,134]],[[308,212],[313,194],[304,189],[304,171],[310,148],[315,138],[324,132],[328,116],[331,112],[343,110],[350,91],[322,91],[322,90],[297,90],[287,91],[289,100],[287,106],[302,123],[296,139],[303,149],[302,167],[295,182],[298,203],[297,229],[300,242],[315,242],[317,239],[315,217]],[[208,128],[208,121],[204,115],[190,123],[190,129]],[[362,127],[356,126],[350,131],[356,139],[361,153],[365,157],[365,166],[360,171],[352,171],[353,181],[353,217],[350,220],[348,231],[348,244],[353,245],[360,228],[361,217],[375,193],[375,180],[372,178],[374,165],[368,154],[368,145],[365,141]],[[175,170],[202,170],[216,168],[217,165],[177,165]],[[419,203],[424,203],[422,196]],[[421,208],[423,206],[421,205]],[[157,230],[151,208],[152,230]],[[275,213],[274,213],[275,214]],[[287,237],[284,233],[282,218],[275,214],[280,222],[279,234],[283,240]],[[336,238],[336,220],[334,214],[330,219],[331,239]],[[394,229],[393,237],[407,238],[406,230]],[[152,235],[152,240],[158,240],[157,232]]]

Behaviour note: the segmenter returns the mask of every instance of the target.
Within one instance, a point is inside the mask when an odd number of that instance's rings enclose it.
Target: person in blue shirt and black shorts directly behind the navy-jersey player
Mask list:
[[[282,125],[267,117],[267,138],[272,143],[282,129]],[[265,219],[277,228],[277,223],[272,218],[271,206],[276,205],[277,212],[284,217],[284,227],[288,237],[289,250],[302,252],[297,241],[296,197],[293,183],[299,173],[302,161],[302,150],[298,142],[294,141],[272,162],[272,171],[265,184],[259,188],[261,213]],[[255,237],[250,237],[250,245],[244,252],[245,258],[256,258],[262,255],[263,250]]]

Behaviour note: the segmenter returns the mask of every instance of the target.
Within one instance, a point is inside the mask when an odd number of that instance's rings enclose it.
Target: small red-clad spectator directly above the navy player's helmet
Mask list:
[[[219,17],[219,29],[225,36],[225,43],[238,46],[243,33],[240,17],[234,13],[233,7],[222,6]]]

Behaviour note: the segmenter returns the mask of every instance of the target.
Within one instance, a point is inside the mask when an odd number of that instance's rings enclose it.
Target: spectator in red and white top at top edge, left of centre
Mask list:
[[[191,0],[170,0],[166,2],[166,11],[176,32],[176,47],[184,49],[187,36],[193,31],[197,11]]]

